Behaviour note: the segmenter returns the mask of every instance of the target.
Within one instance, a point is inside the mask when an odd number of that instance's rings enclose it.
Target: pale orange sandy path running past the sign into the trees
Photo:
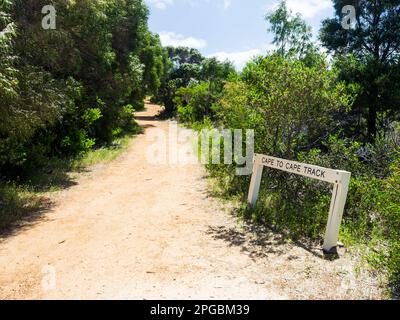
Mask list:
[[[346,255],[256,239],[209,196],[200,165],[149,165],[157,106],[139,114],[146,133],[111,164],[52,195],[35,225],[0,240],[4,299],[379,298],[354,279]]]

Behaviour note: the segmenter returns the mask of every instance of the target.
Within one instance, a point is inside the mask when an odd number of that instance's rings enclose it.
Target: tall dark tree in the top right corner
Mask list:
[[[333,2],[335,17],[323,21],[320,39],[331,53],[342,56],[343,78],[360,84],[355,109],[366,120],[367,138],[373,140],[380,127],[379,113],[385,120],[399,117],[400,1]],[[342,10],[346,5],[354,5],[356,9],[350,30],[342,26]],[[350,55],[357,63],[343,58]]]

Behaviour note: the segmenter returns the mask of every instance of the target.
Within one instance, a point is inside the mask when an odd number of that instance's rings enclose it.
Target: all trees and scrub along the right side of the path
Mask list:
[[[311,41],[301,16],[282,2],[266,16],[275,52],[253,59],[240,74],[216,70],[212,79],[192,79],[176,90],[174,110],[197,130],[254,129],[256,153],[350,171],[340,239],[360,252],[396,294],[400,2],[360,2],[359,21],[351,30],[341,26],[344,2],[334,2],[336,16],[325,20],[319,32],[330,57]],[[235,164],[208,170],[221,196],[242,203],[241,216],[294,240],[322,242],[331,200],[328,184],[264,170],[253,210],[246,203],[250,178],[235,175]]]

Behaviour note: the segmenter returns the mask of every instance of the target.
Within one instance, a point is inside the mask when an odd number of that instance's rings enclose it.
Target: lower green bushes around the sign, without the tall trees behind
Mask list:
[[[347,244],[372,247],[372,265],[388,270],[392,283],[399,277],[399,162],[398,139],[384,135],[365,144],[345,138],[341,120],[351,112],[358,87],[338,81],[327,65],[309,66],[279,55],[258,58],[242,75],[226,83],[213,105],[214,126],[255,129],[255,152],[347,170],[352,173],[341,229]],[[178,102],[190,97],[181,116],[192,120],[197,95],[205,87],[179,91]],[[200,99],[200,101],[202,101]],[[341,117],[337,115],[341,114]],[[210,127],[207,121],[197,129]],[[394,131],[392,136],[398,137]],[[292,238],[322,241],[331,186],[323,182],[266,169],[255,210],[246,206],[249,177],[235,175],[235,164],[209,165],[226,195],[243,199],[242,214]]]

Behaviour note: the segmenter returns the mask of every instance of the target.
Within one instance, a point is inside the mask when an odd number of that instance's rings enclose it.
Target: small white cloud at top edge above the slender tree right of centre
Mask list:
[[[268,6],[268,11],[275,10],[280,1],[276,1],[272,6]],[[300,13],[303,18],[311,19],[320,14],[322,11],[332,8],[331,0],[287,0],[287,7],[294,13]]]

